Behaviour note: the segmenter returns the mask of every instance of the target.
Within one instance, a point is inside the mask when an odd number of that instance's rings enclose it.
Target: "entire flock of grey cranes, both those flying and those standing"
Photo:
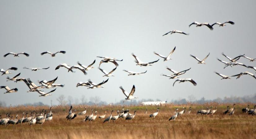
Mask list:
[[[219,22],[216,22],[216,23],[213,23],[212,25],[209,24],[209,23],[199,23],[199,22],[193,22],[189,25],[189,27],[191,25],[196,25],[196,27],[202,27],[202,26],[206,26],[208,27],[210,30],[213,30],[213,26],[218,24],[219,27],[224,27],[226,26],[226,24],[229,23],[231,25],[234,25],[235,23],[232,22],[232,21],[227,21],[227,22],[224,22],[224,23],[219,23]],[[189,33],[184,33],[182,31],[178,31],[178,30],[173,30],[173,31],[170,31],[170,32],[167,32],[165,33],[163,36],[165,35],[168,35],[168,34],[174,34],[174,33],[180,33],[180,34],[184,34],[184,35],[189,35]],[[176,49],[176,46],[173,48],[173,50],[168,54],[168,56],[163,56],[161,54],[158,54],[156,52],[153,52],[155,55],[163,58],[163,61],[168,61],[168,60],[172,60],[171,58],[171,55],[174,53]],[[58,51],[56,53],[51,53],[51,52],[43,52],[41,53],[41,55],[45,55],[45,54],[50,54],[51,57],[56,57],[58,53],[62,53],[62,54],[66,54],[66,51]],[[30,55],[28,53],[7,53],[5,55],[3,55],[3,57],[7,57],[8,55],[13,55],[14,57],[20,57],[20,55],[25,55],[26,57],[29,57]],[[204,59],[200,60],[198,57],[195,57],[194,55],[190,55],[191,57],[193,57],[194,59],[196,59],[198,61],[198,64],[206,64],[205,61],[206,59],[209,57],[210,53],[204,57]],[[254,66],[246,66],[245,64],[243,63],[239,63],[237,62],[241,57],[244,57],[246,59],[248,59],[250,62],[253,62],[256,60],[256,58],[250,58],[250,57],[246,57],[245,54],[243,55],[239,55],[239,56],[236,56],[234,58],[230,58],[228,57],[227,55],[225,55],[224,53],[222,53],[222,55],[224,57],[226,57],[228,59],[228,62],[226,61],[222,61],[220,59],[217,58],[218,61],[224,63],[224,69],[226,67],[233,67],[235,65],[241,65],[241,66],[244,66],[248,69],[254,69],[256,71],[256,67]],[[136,65],[138,66],[153,66],[154,63],[158,62],[159,59],[153,59],[151,62],[143,62],[141,61],[134,53],[132,53],[132,56],[135,58],[135,63]],[[103,84],[107,83],[109,78],[113,78],[115,75],[113,74],[115,72],[115,70],[117,70],[117,67],[119,66],[118,62],[121,62],[123,61],[123,59],[116,59],[116,58],[112,58],[112,57],[101,57],[101,56],[97,56],[98,58],[101,58],[101,61],[99,62],[99,67],[98,69],[103,73],[103,77],[108,77],[108,79],[106,80],[103,80],[102,82],[99,82],[99,83],[94,83],[91,81],[91,79],[88,79],[88,82],[79,82],[77,83],[76,87],[78,86],[86,86],[87,89],[95,89],[95,88],[104,88],[104,86],[102,86]],[[83,75],[87,75],[88,71],[93,69],[94,67],[92,65],[94,65],[96,62],[96,60],[94,60],[90,65],[86,66],[86,65],[82,65],[79,61],[77,62],[78,65],[73,65],[73,66],[70,66],[66,63],[62,63],[58,66],[56,66],[55,70],[58,70],[60,69],[61,67],[64,67],[65,69],[68,70],[68,72],[71,72],[71,73],[75,73],[76,71],[74,71],[75,69],[78,69],[80,70],[81,72],[83,72]],[[105,71],[101,68],[101,64],[102,63],[112,63],[115,65],[115,68],[111,71]],[[47,68],[27,68],[27,67],[24,67],[24,69],[29,69],[31,71],[38,71],[38,70],[48,70],[50,67],[47,67]],[[177,72],[173,69],[170,69],[168,67],[166,67],[167,70],[171,71],[172,74],[171,75],[166,75],[166,74],[160,74],[161,76],[166,76],[168,77],[169,79],[175,79],[177,78],[174,82],[173,82],[173,86],[175,84],[175,82],[191,82],[194,86],[197,85],[197,83],[192,79],[192,78],[179,78],[180,75],[183,75],[185,74],[187,71],[189,71],[191,68],[187,69],[187,70],[182,70],[180,72]],[[9,71],[16,71],[18,70],[18,68],[16,67],[11,67],[7,70],[4,70],[4,69],[1,69],[0,72],[2,72],[2,75],[5,75],[5,74],[11,74],[11,72]],[[131,75],[140,75],[140,74],[146,74],[147,70],[146,71],[142,71],[142,72],[133,72],[133,71],[129,71],[129,70],[123,70],[125,72],[128,73],[128,76],[131,76]],[[236,74],[236,75],[232,75],[232,76],[227,76],[227,75],[223,75],[223,74],[220,74],[216,71],[214,71],[214,73],[216,73],[217,75],[221,76],[222,78],[221,79],[231,79],[231,77],[237,77],[236,79],[240,78],[242,75],[250,75],[252,77],[254,77],[256,79],[256,77],[254,76],[254,74],[248,72],[248,71],[245,71],[245,72],[241,72],[239,74]],[[39,93],[39,96],[48,96],[48,95],[52,95],[50,93],[56,91],[56,87],[64,87],[65,85],[64,84],[56,84],[55,82],[57,81],[57,78],[56,77],[55,79],[53,80],[50,80],[50,81],[46,81],[46,80],[43,80],[43,81],[39,81],[38,80],[38,85],[36,85],[34,82],[32,82],[30,80],[30,78],[18,78],[19,76],[21,75],[21,73],[17,74],[16,76],[10,78],[10,77],[7,77],[7,81],[14,81],[14,82],[19,82],[19,81],[23,81],[29,88],[29,91],[27,92],[37,92]],[[113,76],[113,77],[112,77]],[[13,89],[10,89],[8,86],[0,86],[0,89],[5,89],[6,92],[4,92],[4,94],[7,94],[7,93],[14,93],[14,92],[17,92],[18,89],[17,88],[13,88]],[[54,90],[51,90],[51,91],[48,91],[48,92],[44,92],[44,91],[41,91],[41,89],[49,89],[49,88],[55,88]],[[123,94],[125,95],[125,100],[132,100],[132,99],[136,99],[138,97],[134,97],[134,92],[135,92],[135,85],[132,86],[132,90],[130,91],[130,93],[126,92],[124,90],[124,88],[122,86],[119,87],[121,89],[121,91],[123,92]],[[235,106],[235,104],[234,104]],[[207,114],[214,114],[216,111],[217,111],[217,107],[215,107],[215,110],[211,110],[213,106],[211,106],[210,108],[207,107],[206,110],[199,110],[197,113],[198,114],[202,114],[202,115],[207,115]],[[67,120],[72,120],[74,119],[77,114],[78,115],[85,115],[86,114],[86,107],[85,107],[85,111],[83,112],[80,112],[80,113],[76,113],[76,110],[72,111],[73,108],[72,106],[70,107],[70,111],[69,111],[69,115],[66,116],[66,119]],[[51,110],[50,110],[51,111]],[[110,122],[110,120],[117,120],[118,118],[125,118],[126,120],[132,120],[135,116],[136,116],[136,111],[134,111],[134,114],[129,114],[129,111],[130,110],[124,110],[124,108],[121,110],[121,111],[117,111],[117,115],[116,116],[112,116],[113,112],[114,111],[111,111],[111,114],[109,117],[107,117],[104,122]],[[153,117],[155,118],[155,116],[158,115],[160,109],[158,108],[157,111],[153,114],[150,114],[150,117]],[[229,115],[233,115],[234,114],[234,111],[235,111],[235,107],[233,108],[230,108],[227,107],[227,111],[224,112],[224,114],[227,114],[229,113]],[[248,112],[252,115],[255,115],[255,106],[254,106],[254,109],[253,110],[249,110],[249,106],[245,109],[243,109],[243,112]],[[147,112],[147,111],[146,111]],[[175,115],[171,116],[169,120],[175,120],[177,118],[177,116],[181,116],[183,113],[186,113],[186,108],[183,107],[183,110],[181,112],[178,112],[178,108],[176,109],[176,113]],[[189,108],[189,111],[187,113],[190,113],[191,112],[191,107]],[[49,117],[52,117],[52,112],[50,113],[46,113],[46,111],[42,111],[39,113],[39,116],[37,116],[37,113],[34,113],[34,112],[31,112],[29,113],[30,117],[27,117],[27,114],[26,113],[26,118],[24,118],[24,113],[23,113],[23,118],[18,120],[17,117],[18,115],[16,115],[16,119],[15,120],[10,120],[11,116],[10,116],[10,113],[6,114],[6,118],[4,119],[1,119],[0,121],[0,124],[4,124],[4,125],[8,125],[8,124],[17,124],[17,123],[23,123],[23,122],[29,122],[29,124],[31,125],[32,124],[43,124],[45,121],[47,120],[52,120],[52,118],[49,118]],[[98,118],[100,119],[104,119],[106,116],[106,112],[105,112],[105,115],[101,115],[99,116]],[[95,119],[97,118],[97,111],[95,111],[95,115],[93,113],[93,109],[92,109],[92,114],[91,115],[88,115],[85,117],[85,120],[84,121],[94,121]],[[12,119],[12,118],[11,118]]]

